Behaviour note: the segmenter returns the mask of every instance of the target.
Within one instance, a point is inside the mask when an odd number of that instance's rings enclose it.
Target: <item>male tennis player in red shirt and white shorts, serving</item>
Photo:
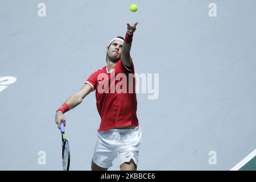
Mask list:
[[[118,36],[110,41],[106,47],[107,65],[92,73],[82,88],[56,111],[55,122],[60,128],[61,122],[65,125],[64,113],[79,105],[90,92],[96,91],[101,123],[92,170],[108,170],[117,157],[122,171],[137,170],[142,133],[137,118],[134,64],[130,56],[137,24],[131,26],[127,23],[125,39]]]

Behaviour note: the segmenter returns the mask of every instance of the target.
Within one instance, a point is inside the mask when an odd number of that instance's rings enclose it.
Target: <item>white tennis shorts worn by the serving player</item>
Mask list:
[[[98,139],[94,148],[93,162],[102,168],[109,168],[113,160],[119,156],[119,164],[134,160],[138,164],[139,146],[141,144],[141,127],[134,129],[111,129],[98,131]]]

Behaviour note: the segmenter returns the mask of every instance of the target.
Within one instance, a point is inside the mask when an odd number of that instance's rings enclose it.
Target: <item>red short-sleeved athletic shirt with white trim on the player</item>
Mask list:
[[[119,60],[112,72],[107,69],[106,66],[98,69],[85,82],[96,90],[96,105],[101,117],[98,131],[138,126],[134,65],[128,69]]]

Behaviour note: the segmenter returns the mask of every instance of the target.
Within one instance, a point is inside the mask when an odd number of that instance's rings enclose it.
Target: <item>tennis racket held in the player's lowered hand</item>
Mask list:
[[[70,163],[70,152],[69,152],[68,140],[64,131],[63,122],[60,123],[60,132],[61,132],[61,139],[62,139],[62,167],[63,167],[63,171],[68,171],[69,163]]]

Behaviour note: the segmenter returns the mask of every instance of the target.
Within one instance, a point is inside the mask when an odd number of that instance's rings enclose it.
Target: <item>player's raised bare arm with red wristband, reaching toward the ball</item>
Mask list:
[[[133,64],[133,60],[130,56],[130,50],[131,50],[131,42],[133,40],[133,33],[136,30],[136,26],[139,22],[134,23],[133,26],[131,26],[129,23],[127,23],[127,32],[125,35],[125,41],[123,42],[122,52],[121,52],[121,60],[123,64],[131,68]]]

